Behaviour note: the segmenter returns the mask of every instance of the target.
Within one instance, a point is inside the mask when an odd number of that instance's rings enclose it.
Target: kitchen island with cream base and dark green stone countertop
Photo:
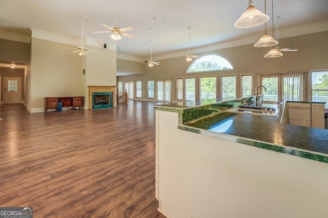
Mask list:
[[[167,217],[323,217],[328,130],[228,112],[245,99],[155,105]]]

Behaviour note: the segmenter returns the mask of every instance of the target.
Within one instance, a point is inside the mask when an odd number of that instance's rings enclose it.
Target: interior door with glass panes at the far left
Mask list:
[[[4,78],[4,102],[5,104],[20,103],[22,96],[21,79],[18,77]]]

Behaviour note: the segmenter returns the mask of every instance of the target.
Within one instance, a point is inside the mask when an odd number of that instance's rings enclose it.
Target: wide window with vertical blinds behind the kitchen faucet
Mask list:
[[[260,85],[267,91],[263,100],[267,101],[302,101],[305,99],[306,72],[290,72],[260,75]]]

